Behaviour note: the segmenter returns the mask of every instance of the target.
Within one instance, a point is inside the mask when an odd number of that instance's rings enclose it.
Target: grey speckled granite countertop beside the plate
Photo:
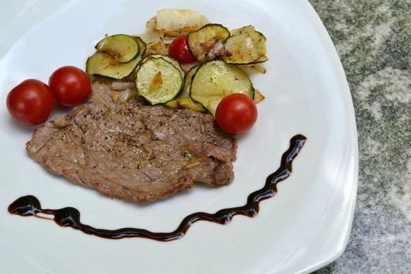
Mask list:
[[[340,55],[360,170],[343,256],[316,273],[411,273],[411,0],[310,0]]]

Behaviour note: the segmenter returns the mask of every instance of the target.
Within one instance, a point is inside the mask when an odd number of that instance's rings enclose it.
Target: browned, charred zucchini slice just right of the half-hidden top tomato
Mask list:
[[[229,56],[229,51],[224,47],[224,42],[229,38],[229,35],[229,30],[223,25],[205,25],[197,32],[188,34],[188,50],[199,62],[214,60],[219,56]]]

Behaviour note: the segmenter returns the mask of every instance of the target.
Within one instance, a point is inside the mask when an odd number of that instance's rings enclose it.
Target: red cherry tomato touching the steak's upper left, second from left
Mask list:
[[[73,107],[90,95],[91,84],[87,73],[75,66],[62,66],[49,78],[49,86],[60,105]]]

